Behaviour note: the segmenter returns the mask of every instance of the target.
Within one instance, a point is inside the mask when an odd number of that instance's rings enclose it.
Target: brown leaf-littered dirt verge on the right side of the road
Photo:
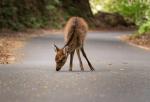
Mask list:
[[[150,34],[143,35],[124,35],[119,37],[123,41],[129,42],[132,45],[136,45],[140,48],[150,50]]]

